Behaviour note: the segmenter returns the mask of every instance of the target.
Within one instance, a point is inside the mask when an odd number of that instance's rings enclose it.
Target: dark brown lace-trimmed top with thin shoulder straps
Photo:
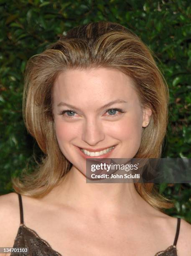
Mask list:
[[[21,195],[18,194],[20,207],[20,226],[15,238],[13,247],[28,248],[27,253],[11,253],[11,256],[62,256],[61,253],[54,251],[48,242],[38,236],[38,234],[24,225],[23,221],[23,204]],[[177,256],[176,243],[180,230],[181,219],[177,218],[176,235],[173,245],[169,246],[165,251],[159,251],[154,256]],[[127,253],[128,255],[128,253]],[[63,255],[64,256],[64,255]],[[141,256],[141,255],[140,255]]]

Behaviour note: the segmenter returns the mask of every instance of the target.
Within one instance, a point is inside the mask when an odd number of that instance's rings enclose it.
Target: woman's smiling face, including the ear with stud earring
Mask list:
[[[133,158],[151,113],[141,109],[132,79],[115,69],[70,69],[54,83],[59,147],[83,174],[86,158]]]

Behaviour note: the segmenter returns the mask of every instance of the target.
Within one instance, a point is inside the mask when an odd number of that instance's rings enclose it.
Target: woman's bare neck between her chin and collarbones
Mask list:
[[[86,177],[74,166],[49,194],[53,202],[91,215],[135,217],[151,207],[133,183],[86,183]]]

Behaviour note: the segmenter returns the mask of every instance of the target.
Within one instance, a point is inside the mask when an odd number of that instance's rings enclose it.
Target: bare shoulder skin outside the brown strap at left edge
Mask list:
[[[12,247],[20,225],[18,195],[0,196],[0,247]]]

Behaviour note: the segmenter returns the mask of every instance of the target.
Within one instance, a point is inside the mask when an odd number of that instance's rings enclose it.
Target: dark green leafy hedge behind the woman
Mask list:
[[[153,51],[170,90],[163,157],[191,158],[190,0],[0,0],[0,195],[13,191],[11,175],[34,166],[22,118],[27,60],[74,26],[109,20],[134,31]],[[176,202],[169,215],[191,223],[191,183],[159,184]]]

